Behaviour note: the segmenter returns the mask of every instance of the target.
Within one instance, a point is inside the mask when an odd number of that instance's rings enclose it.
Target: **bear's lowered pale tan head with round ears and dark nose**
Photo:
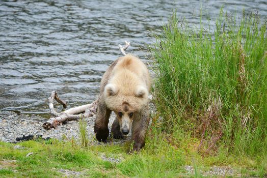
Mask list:
[[[127,92],[115,84],[107,84],[104,88],[106,106],[114,111],[120,123],[120,130],[127,135],[133,120],[139,119],[144,105],[147,105],[148,90],[142,85],[128,88]]]

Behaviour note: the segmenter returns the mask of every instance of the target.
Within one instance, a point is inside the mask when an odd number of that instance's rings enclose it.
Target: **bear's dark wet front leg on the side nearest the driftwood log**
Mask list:
[[[99,100],[96,112],[94,132],[96,139],[100,142],[106,142],[106,139],[109,136],[110,131],[108,129],[108,124],[110,114],[111,110],[106,108],[104,101]]]

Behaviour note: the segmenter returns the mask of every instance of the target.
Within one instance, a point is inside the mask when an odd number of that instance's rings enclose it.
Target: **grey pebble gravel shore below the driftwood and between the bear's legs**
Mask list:
[[[110,117],[109,128],[113,121],[115,120],[115,114],[112,113]],[[22,137],[23,135],[42,135],[43,138],[57,138],[62,139],[74,138],[79,139],[79,123],[76,121],[70,121],[63,125],[57,127],[57,129],[45,130],[42,125],[47,121],[47,118],[38,116],[38,115],[26,115],[26,114],[17,114],[15,112],[7,112],[0,114],[0,140],[5,142],[16,142],[17,137]],[[94,121],[95,116],[85,118],[87,122],[87,133],[89,138],[94,137]],[[111,130],[111,129],[110,129]],[[129,136],[126,137],[126,139]],[[95,139],[93,144],[101,144]],[[113,143],[122,143],[125,139],[113,139]],[[109,142],[109,140],[108,140]]]

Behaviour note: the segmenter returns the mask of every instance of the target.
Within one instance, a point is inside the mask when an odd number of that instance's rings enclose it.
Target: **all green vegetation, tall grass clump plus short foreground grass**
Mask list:
[[[174,15],[156,37],[157,113],[139,153],[127,153],[129,142],[92,145],[81,120],[81,143],[0,142],[0,177],[65,177],[70,170],[85,177],[203,177],[212,166],[233,168],[232,177],[266,176],[266,26],[253,14],[237,23],[223,13],[216,26],[192,29]]]

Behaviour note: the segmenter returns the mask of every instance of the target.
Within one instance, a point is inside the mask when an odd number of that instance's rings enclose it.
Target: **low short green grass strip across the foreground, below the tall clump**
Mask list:
[[[201,177],[201,170],[213,165],[231,166],[237,172],[242,168],[246,170],[242,172],[244,176],[265,175],[264,160],[226,154],[202,157],[194,146],[184,146],[190,145],[191,139],[183,138],[182,141],[180,145],[173,144],[169,134],[160,133],[154,127],[148,131],[144,149],[134,154],[127,154],[128,143],[85,148],[72,140],[51,139],[49,144],[42,140],[21,142],[18,144],[24,149],[17,150],[13,149],[16,144],[0,141],[0,161],[16,160],[0,172],[0,177],[65,177],[60,169],[80,172],[85,177]],[[30,152],[33,155],[26,157]],[[101,159],[103,154],[122,161],[104,161]],[[187,172],[185,165],[194,165],[196,172]]]

